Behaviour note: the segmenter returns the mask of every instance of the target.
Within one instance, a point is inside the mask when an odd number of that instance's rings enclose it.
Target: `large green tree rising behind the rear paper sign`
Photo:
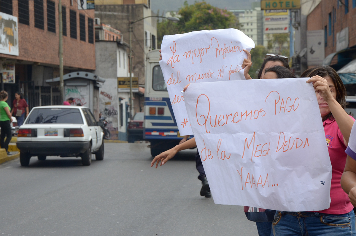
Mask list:
[[[205,1],[195,2],[192,5],[185,1],[184,6],[178,11],[178,17],[179,22],[177,23],[168,20],[157,23],[158,48],[161,48],[164,35],[239,27],[234,14],[211,6]]]

